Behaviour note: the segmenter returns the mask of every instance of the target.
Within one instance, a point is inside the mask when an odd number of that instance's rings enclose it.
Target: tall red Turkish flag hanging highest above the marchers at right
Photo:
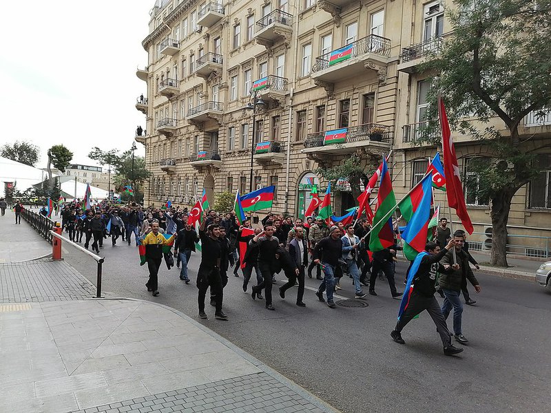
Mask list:
[[[446,108],[444,100],[438,96],[438,113],[440,118],[440,128],[442,131],[442,152],[444,155],[444,176],[446,176],[446,194],[448,194],[448,204],[450,208],[455,209],[455,213],[461,220],[465,230],[472,234],[474,229],[470,222],[470,217],[467,212],[465,203],[465,195],[461,186],[461,178],[459,177],[459,165],[457,156],[455,155],[455,147],[450,132],[448,116],[446,116]]]

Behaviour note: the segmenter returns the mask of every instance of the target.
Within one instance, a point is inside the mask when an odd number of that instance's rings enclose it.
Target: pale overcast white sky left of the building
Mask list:
[[[0,145],[27,140],[46,151],[63,144],[72,163],[98,165],[92,147],[125,151],[145,115],[136,98],[146,83],[147,36],[154,0],[6,1],[0,25]],[[136,156],[145,149],[136,143]]]

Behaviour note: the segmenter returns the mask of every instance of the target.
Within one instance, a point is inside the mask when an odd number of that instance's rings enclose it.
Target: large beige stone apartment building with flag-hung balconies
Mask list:
[[[320,184],[318,166],[391,150],[395,192],[405,194],[436,151],[412,143],[428,87],[417,67],[450,30],[444,3],[158,0],[142,42],[147,67],[136,73],[147,82],[136,103],[147,135],[136,140],[154,174],[145,204],[190,205],[203,187],[213,202],[215,193],[275,184],[273,210],[300,217]],[[523,127],[549,139],[550,125],[551,115],[528,116]],[[335,130],[344,142],[326,145]],[[468,136],[457,137],[457,151],[465,173],[470,158],[484,156]],[[475,231],[484,233],[488,202],[467,192]],[[346,180],[333,195],[335,215],[354,204]],[[527,185],[515,196],[511,233],[551,236],[550,213],[551,193]],[[484,235],[472,240],[484,248]]]

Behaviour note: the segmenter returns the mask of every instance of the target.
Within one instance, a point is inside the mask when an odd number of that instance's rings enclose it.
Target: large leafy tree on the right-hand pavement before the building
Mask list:
[[[530,112],[543,114],[551,107],[551,6],[548,0],[456,0],[455,6],[448,11],[453,35],[419,67],[434,74],[419,144],[437,143],[440,92],[452,130],[471,134],[492,158],[475,165],[477,191],[490,200],[491,264],[507,266],[511,200],[539,172],[536,152],[545,147],[534,136],[523,136],[519,125]],[[506,131],[492,125],[492,118]]]

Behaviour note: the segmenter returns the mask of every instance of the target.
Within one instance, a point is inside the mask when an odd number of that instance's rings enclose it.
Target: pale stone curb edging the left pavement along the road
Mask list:
[[[98,298],[90,298],[90,299],[99,300]],[[214,332],[210,328],[208,328],[206,326],[203,326],[198,321],[192,319],[188,315],[185,315],[184,313],[182,313],[179,310],[176,310],[176,309],[171,308],[169,306],[165,306],[165,304],[155,303],[155,302],[152,302],[152,301],[147,301],[145,299],[128,298],[128,297],[105,297],[105,298],[102,298],[101,300],[105,300],[105,299],[125,299],[125,300],[128,300],[128,301],[141,301],[141,302],[146,303],[146,304],[152,304],[154,306],[159,306],[159,307],[165,308],[166,310],[169,310],[172,313],[182,317],[186,321],[189,321],[189,323],[196,326],[197,328],[199,328],[203,332],[206,332],[208,335],[210,335],[214,339],[220,341],[220,343],[224,344],[226,347],[228,347],[231,350],[235,351],[241,357],[243,357],[244,359],[249,361],[251,364],[253,364],[257,368],[259,368],[260,370],[262,370],[266,374],[269,374],[269,376],[273,377],[273,379],[275,379],[275,380],[279,381],[280,383],[282,383],[283,385],[286,385],[287,387],[291,388],[293,391],[300,394],[300,396],[304,397],[304,399],[308,400],[310,403],[312,403],[316,407],[320,408],[324,412],[327,412],[327,413],[342,413],[340,410],[335,409],[335,407],[329,405],[328,403],[325,403],[318,396],[314,396],[313,394],[311,394],[307,390],[304,390],[304,388],[302,388],[300,385],[298,385],[297,383],[295,383],[291,379],[285,377],[283,374],[280,374],[280,373],[276,372],[275,370],[273,370],[273,368],[271,368],[271,367],[267,366],[266,364],[262,363],[262,361],[260,361],[256,357],[253,357],[251,354],[249,354],[245,350],[242,350],[241,348],[239,348],[235,344],[231,343],[231,341],[225,339],[224,337],[222,337],[218,333]]]

